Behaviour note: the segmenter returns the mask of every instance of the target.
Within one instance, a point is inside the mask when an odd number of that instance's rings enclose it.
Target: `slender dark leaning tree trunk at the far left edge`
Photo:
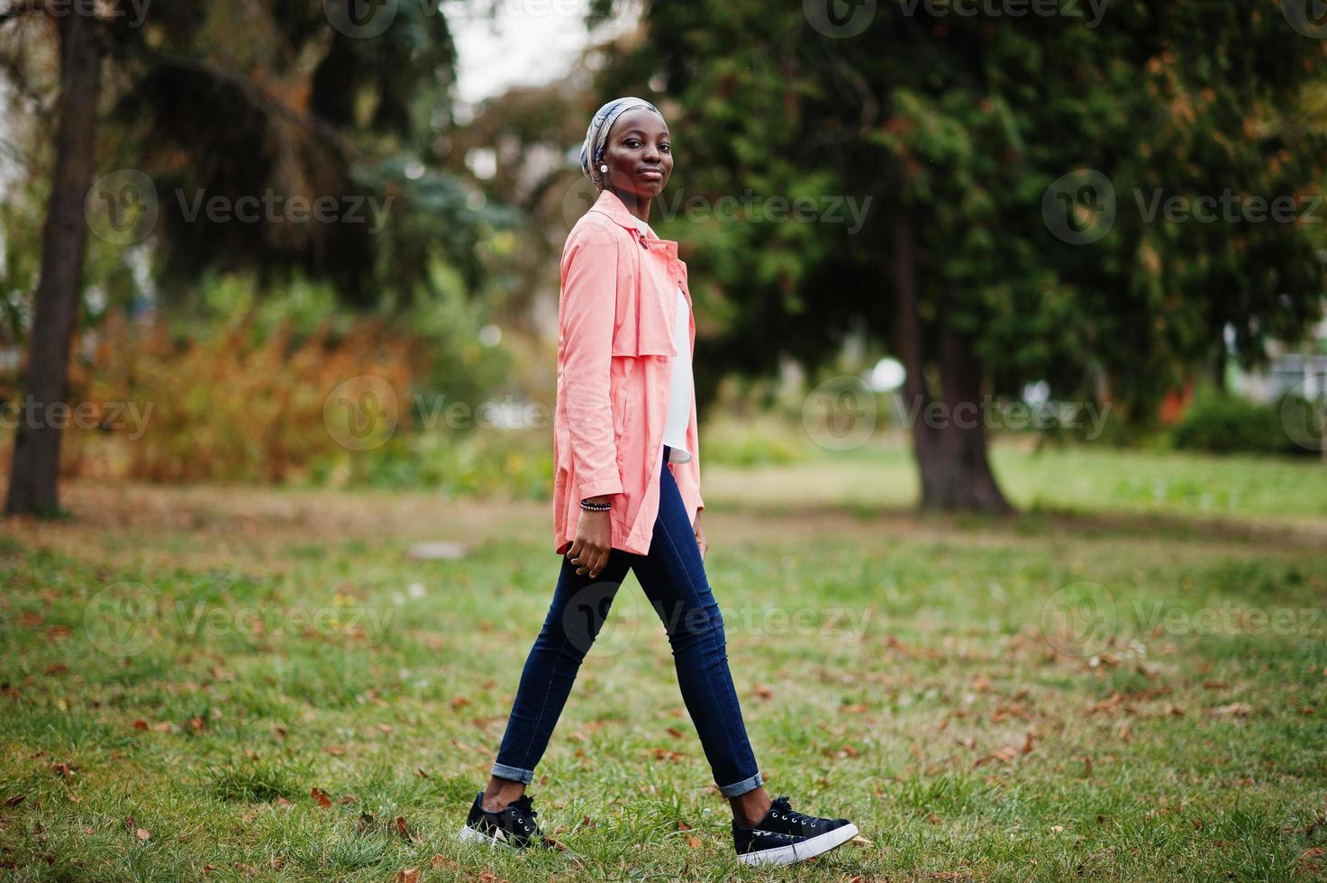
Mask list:
[[[84,199],[92,182],[97,133],[101,48],[97,20],[80,11],[60,19],[60,129],[56,170],[41,231],[41,280],[28,348],[24,398],[13,442],[7,515],[60,511],[60,440],[72,412],[69,347],[78,299],[88,224]]]

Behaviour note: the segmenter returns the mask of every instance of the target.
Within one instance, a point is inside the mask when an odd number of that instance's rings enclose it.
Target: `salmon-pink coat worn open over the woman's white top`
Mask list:
[[[677,287],[687,303],[677,243],[650,239],[610,190],[567,235],[557,305],[557,405],[553,413],[553,539],[576,539],[580,501],[612,494],[613,548],[645,555],[654,535],[664,467]],[[690,312],[690,311],[689,311]],[[695,321],[689,319],[695,352]],[[667,463],[695,522],[701,446],[695,389],[686,426],[691,459]]]

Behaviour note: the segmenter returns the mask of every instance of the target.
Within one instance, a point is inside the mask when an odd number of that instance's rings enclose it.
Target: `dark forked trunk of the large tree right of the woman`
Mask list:
[[[922,509],[967,509],[1011,513],[990,461],[981,409],[982,365],[973,341],[943,319],[937,323],[941,405],[926,392],[926,353],[918,313],[917,255],[910,220],[894,219],[894,293],[898,356],[904,364],[904,398],[910,418],[913,454],[921,474]]]

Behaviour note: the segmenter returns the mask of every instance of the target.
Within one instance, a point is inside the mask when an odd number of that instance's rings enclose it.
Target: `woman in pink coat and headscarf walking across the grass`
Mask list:
[[[641,98],[600,108],[581,167],[600,194],[561,260],[553,534],[564,558],[488,787],[460,835],[516,848],[551,844],[525,785],[632,571],[667,629],[682,698],[733,807],[738,860],[800,862],[852,839],[857,826],[796,813],[787,797],[771,801],[747,741],[703,566],[686,264],[677,243],[648,223],[673,171],[658,109]]]

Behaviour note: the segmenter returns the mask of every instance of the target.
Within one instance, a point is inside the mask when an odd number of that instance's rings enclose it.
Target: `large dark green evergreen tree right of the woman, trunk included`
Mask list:
[[[1227,324],[1257,360],[1269,336],[1315,319],[1310,224],[1147,207],[1154,193],[1196,206],[1318,186],[1324,139],[1296,106],[1322,80],[1323,41],[1257,4],[1202,0],[1120,0],[1099,21],[1085,4],[871,9],[652,4],[636,44],[610,53],[604,94],[670,109],[671,187],[710,204],[747,189],[872,199],[855,235],[824,222],[678,230],[702,304],[740,317],[705,343],[707,361],[815,366],[864,323],[908,369],[922,505],[1005,511],[987,426],[970,418],[987,397],[1044,380],[1055,398],[1147,414]]]

